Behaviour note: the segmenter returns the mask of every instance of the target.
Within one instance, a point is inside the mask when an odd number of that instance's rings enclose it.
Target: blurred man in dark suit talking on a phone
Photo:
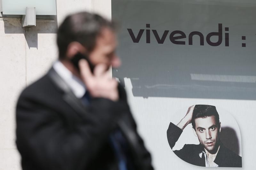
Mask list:
[[[70,15],[57,44],[59,60],[17,103],[23,170],[153,169],[124,88],[107,72],[121,64],[114,24],[87,12]],[[71,62],[77,55],[90,62]]]

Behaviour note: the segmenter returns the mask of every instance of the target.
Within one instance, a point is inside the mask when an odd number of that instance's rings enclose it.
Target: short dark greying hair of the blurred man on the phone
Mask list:
[[[103,28],[115,30],[115,24],[98,14],[79,12],[67,16],[57,31],[57,45],[59,48],[59,59],[66,57],[68,44],[77,41],[81,43],[88,52],[96,45],[96,38]]]

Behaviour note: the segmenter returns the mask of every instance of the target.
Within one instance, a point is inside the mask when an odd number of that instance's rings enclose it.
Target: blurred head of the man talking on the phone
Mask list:
[[[58,29],[57,44],[60,60],[70,60],[81,53],[88,56],[93,65],[120,65],[115,54],[115,25],[97,14],[80,12],[69,15]]]

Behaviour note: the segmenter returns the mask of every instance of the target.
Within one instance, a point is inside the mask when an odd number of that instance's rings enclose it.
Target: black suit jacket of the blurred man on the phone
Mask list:
[[[51,69],[20,95],[16,143],[24,170],[117,169],[109,134],[121,129],[135,169],[149,170],[151,157],[119,85],[120,100],[94,98],[88,106]]]

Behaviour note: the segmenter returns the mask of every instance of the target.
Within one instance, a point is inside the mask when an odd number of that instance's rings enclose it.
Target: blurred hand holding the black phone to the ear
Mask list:
[[[93,71],[94,74],[92,74],[87,61],[81,59],[79,61],[79,69],[86,89],[90,92],[92,97],[107,98],[113,101],[119,99],[117,90],[118,83],[116,80],[112,79],[106,71],[106,65],[96,65]]]

